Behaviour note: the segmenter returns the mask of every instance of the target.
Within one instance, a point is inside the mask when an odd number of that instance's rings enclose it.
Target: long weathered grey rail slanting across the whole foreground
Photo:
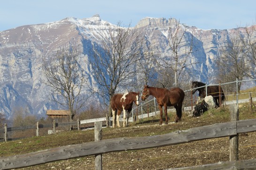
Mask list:
[[[88,155],[164,147],[196,140],[233,136],[238,133],[256,131],[255,122],[256,119],[239,120],[210,126],[195,127],[162,135],[100,140],[90,143],[51,148],[23,155],[1,157],[0,169],[7,170]]]

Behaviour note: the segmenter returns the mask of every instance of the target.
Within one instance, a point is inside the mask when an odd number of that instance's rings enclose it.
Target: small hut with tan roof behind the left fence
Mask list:
[[[55,120],[56,123],[62,123],[68,122],[70,112],[66,110],[47,110],[46,115],[51,122]]]

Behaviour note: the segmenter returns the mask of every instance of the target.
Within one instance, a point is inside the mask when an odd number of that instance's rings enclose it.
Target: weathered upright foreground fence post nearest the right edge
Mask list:
[[[230,104],[230,121],[237,121],[239,119],[238,105]],[[238,160],[238,133],[229,137],[229,161]]]

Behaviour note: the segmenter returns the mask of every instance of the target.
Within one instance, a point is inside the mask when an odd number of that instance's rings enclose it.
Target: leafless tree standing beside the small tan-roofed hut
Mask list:
[[[63,105],[70,111],[69,121],[72,121],[76,112],[83,107],[85,98],[81,94],[85,79],[79,67],[79,51],[74,46],[60,49],[49,60],[43,60],[44,83],[53,90],[58,99],[53,101]]]

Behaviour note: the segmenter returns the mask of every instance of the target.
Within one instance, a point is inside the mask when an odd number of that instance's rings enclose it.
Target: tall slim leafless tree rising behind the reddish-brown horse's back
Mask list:
[[[162,77],[169,77],[169,80],[174,80],[175,87],[180,86],[180,79],[183,76],[185,68],[194,64],[188,64],[187,62],[193,51],[193,33],[186,34],[186,32],[187,29],[180,24],[180,21],[176,21],[175,25],[170,25],[167,38],[171,58],[167,59],[168,57],[165,57],[158,59],[159,68],[163,73]],[[189,40],[189,43],[184,43],[187,40]]]

